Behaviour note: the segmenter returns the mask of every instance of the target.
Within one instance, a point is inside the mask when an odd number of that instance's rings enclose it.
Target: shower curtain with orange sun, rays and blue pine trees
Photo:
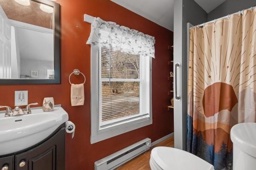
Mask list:
[[[256,8],[190,29],[187,150],[231,170],[230,129],[256,122]]]

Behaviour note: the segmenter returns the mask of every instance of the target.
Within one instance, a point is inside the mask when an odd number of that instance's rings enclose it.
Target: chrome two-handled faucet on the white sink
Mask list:
[[[30,109],[31,105],[38,105],[38,103],[31,103],[26,106],[25,109],[20,108],[20,106],[16,106],[14,110],[12,110],[9,106],[0,106],[0,108],[6,108],[5,117],[11,117],[11,116],[20,116],[25,114],[31,114],[32,111]]]

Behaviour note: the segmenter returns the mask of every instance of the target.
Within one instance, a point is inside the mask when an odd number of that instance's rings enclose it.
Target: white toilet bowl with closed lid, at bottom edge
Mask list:
[[[151,170],[214,170],[211,164],[198,156],[172,147],[155,147],[149,164]]]

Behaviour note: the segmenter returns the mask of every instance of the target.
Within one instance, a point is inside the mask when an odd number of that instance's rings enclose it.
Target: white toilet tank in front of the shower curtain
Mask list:
[[[256,170],[256,123],[232,127],[233,170]]]

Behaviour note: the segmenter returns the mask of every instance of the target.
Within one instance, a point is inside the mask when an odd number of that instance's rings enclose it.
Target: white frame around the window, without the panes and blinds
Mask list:
[[[100,126],[100,48],[91,45],[91,138],[90,143],[96,143],[131,130],[138,129],[153,123],[152,120],[152,57],[150,57],[150,103],[149,114],[133,115],[121,119],[113,120],[113,123]]]

